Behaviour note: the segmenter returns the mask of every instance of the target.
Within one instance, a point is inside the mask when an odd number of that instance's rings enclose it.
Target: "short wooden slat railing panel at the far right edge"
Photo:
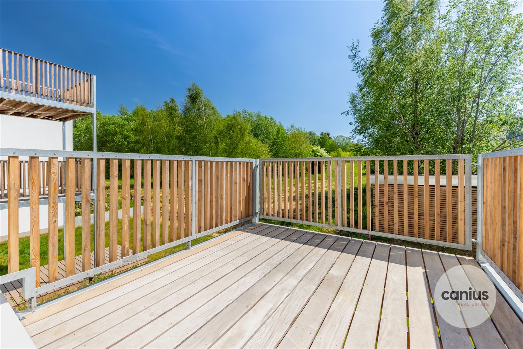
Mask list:
[[[482,220],[478,224],[482,224],[483,254],[523,291],[523,155],[519,154],[523,154],[521,148],[481,154]]]

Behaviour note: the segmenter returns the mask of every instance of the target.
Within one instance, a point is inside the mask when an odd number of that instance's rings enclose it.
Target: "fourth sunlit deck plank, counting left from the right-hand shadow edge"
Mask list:
[[[375,242],[364,241],[311,348],[341,348],[370,265]]]

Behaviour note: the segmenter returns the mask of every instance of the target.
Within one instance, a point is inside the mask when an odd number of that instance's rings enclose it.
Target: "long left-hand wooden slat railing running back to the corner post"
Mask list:
[[[63,152],[58,156],[60,155],[64,156],[66,153]],[[82,155],[85,154],[79,154]],[[97,156],[97,154],[90,153],[90,156]],[[99,268],[106,263],[106,238],[110,264],[119,258],[128,257],[130,250],[133,251],[133,255],[149,250],[155,252],[158,249],[173,247],[182,239],[180,243],[190,242],[203,234],[254,217],[252,181],[254,160],[217,160],[216,158],[205,160],[206,158],[203,157],[191,159],[183,156],[172,156],[173,160],[167,160],[166,155],[150,157],[153,159],[147,159],[143,154],[133,156],[113,154],[112,157],[99,155],[94,158],[83,157],[81,160],[66,157],[61,166],[58,157],[55,156],[49,157],[46,161],[40,161],[38,156],[30,156],[28,161],[23,162],[19,161],[18,156],[8,156],[8,160],[4,163],[4,166],[7,165],[5,173],[9,218],[8,273],[16,272],[19,268],[18,209],[19,196],[24,192],[20,190],[19,183],[21,163],[27,163],[31,220],[30,254],[31,266],[36,267],[37,271],[37,287],[39,287],[41,273],[39,199],[41,188],[44,187],[42,182],[48,183],[46,194],[49,205],[47,212],[49,284],[60,278],[58,275],[58,202],[59,194],[62,192],[65,194],[65,277],[75,276],[74,216],[75,196],[78,196],[78,190],[81,195],[82,211],[82,251],[78,254],[82,256],[82,272],[89,271],[91,268],[93,240],[95,265]],[[90,169],[95,161],[96,227],[92,236],[91,183],[94,173]],[[108,178],[106,167],[109,170]],[[63,183],[60,184],[62,176]],[[195,178],[195,183],[192,178]],[[108,186],[106,186],[107,179]],[[120,179],[121,185],[119,185]],[[131,184],[133,184],[132,192]],[[195,186],[194,190],[193,186]],[[131,200],[134,201],[132,215]],[[140,213],[142,206],[143,216]],[[121,224],[118,218],[119,209],[121,209]],[[109,221],[106,231],[107,210]],[[193,215],[195,222],[193,222]],[[194,231],[192,224],[195,224]]]

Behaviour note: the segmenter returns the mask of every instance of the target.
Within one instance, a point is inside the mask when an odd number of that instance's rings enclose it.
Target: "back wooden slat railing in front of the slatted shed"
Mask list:
[[[470,249],[471,157],[445,156],[263,159],[262,217]]]

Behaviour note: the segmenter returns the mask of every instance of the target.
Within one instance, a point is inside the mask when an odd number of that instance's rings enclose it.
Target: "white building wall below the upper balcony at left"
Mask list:
[[[62,150],[62,122],[0,114],[0,148]],[[65,123],[65,150],[73,150],[73,121]],[[7,160],[7,156],[0,156],[0,160]],[[20,160],[29,158],[20,156]],[[58,204],[59,226],[63,226],[63,205]],[[42,232],[47,232],[48,210],[48,205],[40,206]],[[20,236],[29,231],[29,207],[19,209],[19,231]],[[6,239],[7,210],[0,210],[0,241]]]

